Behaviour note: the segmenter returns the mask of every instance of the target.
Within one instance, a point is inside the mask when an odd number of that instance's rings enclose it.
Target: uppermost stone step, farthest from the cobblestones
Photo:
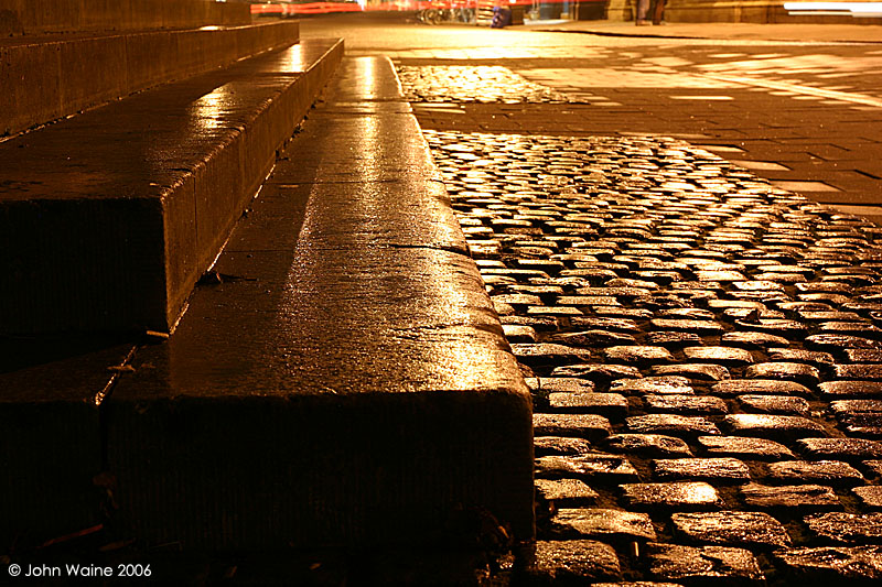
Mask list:
[[[211,0],[0,0],[0,36],[250,22],[247,3]]]

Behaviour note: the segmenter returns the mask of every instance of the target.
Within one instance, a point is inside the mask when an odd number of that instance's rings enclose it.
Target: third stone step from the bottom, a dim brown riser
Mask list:
[[[0,39],[0,135],[298,40],[293,21]]]

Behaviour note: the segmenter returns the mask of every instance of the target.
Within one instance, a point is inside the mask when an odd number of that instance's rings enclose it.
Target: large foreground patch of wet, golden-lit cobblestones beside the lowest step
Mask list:
[[[424,134],[534,393],[527,584],[882,576],[882,229],[663,137]]]

